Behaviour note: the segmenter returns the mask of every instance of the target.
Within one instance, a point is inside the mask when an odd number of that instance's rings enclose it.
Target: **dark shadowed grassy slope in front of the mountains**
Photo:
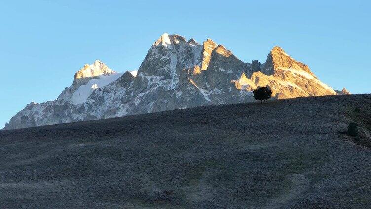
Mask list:
[[[371,208],[371,152],[339,133],[355,103],[371,95],[1,131],[0,208]]]

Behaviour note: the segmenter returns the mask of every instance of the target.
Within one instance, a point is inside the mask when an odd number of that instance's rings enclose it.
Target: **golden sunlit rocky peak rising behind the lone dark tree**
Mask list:
[[[307,65],[297,62],[278,46],[270,51],[263,67],[260,66],[258,61],[253,61],[246,75],[242,74],[240,79],[232,81],[236,88],[252,91],[259,86],[269,86],[272,96],[277,99],[336,94]]]

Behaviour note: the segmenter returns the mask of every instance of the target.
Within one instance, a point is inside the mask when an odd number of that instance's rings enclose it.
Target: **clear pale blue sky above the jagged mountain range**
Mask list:
[[[369,0],[6,0],[0,12],[0,128],[54,100],[95,59],[136,70],[164,32],[211,38],[245,62],[281,46],[323,82],[371,92]]]

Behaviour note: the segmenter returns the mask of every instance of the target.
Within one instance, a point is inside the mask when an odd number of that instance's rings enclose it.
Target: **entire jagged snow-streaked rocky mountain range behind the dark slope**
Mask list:
[[[5,129],[249,102],[259,86],[269,86],[273,99],[336,94],[280,47],[265,63],[250,64],[211,39],[201,45],[166,33],[132,74],[116,73],[98,60],[85,65],[56,100],[28,104]]]

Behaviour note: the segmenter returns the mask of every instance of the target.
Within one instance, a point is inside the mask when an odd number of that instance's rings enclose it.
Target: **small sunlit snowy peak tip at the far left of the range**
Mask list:
[[[106,64],[102,63],[99,60],[96,60],[93,64],[85,64],[83,68],[78,70],[74,75],[75,79],[95,77],[102,74],[113,74],[115,71],[107,67]]]

